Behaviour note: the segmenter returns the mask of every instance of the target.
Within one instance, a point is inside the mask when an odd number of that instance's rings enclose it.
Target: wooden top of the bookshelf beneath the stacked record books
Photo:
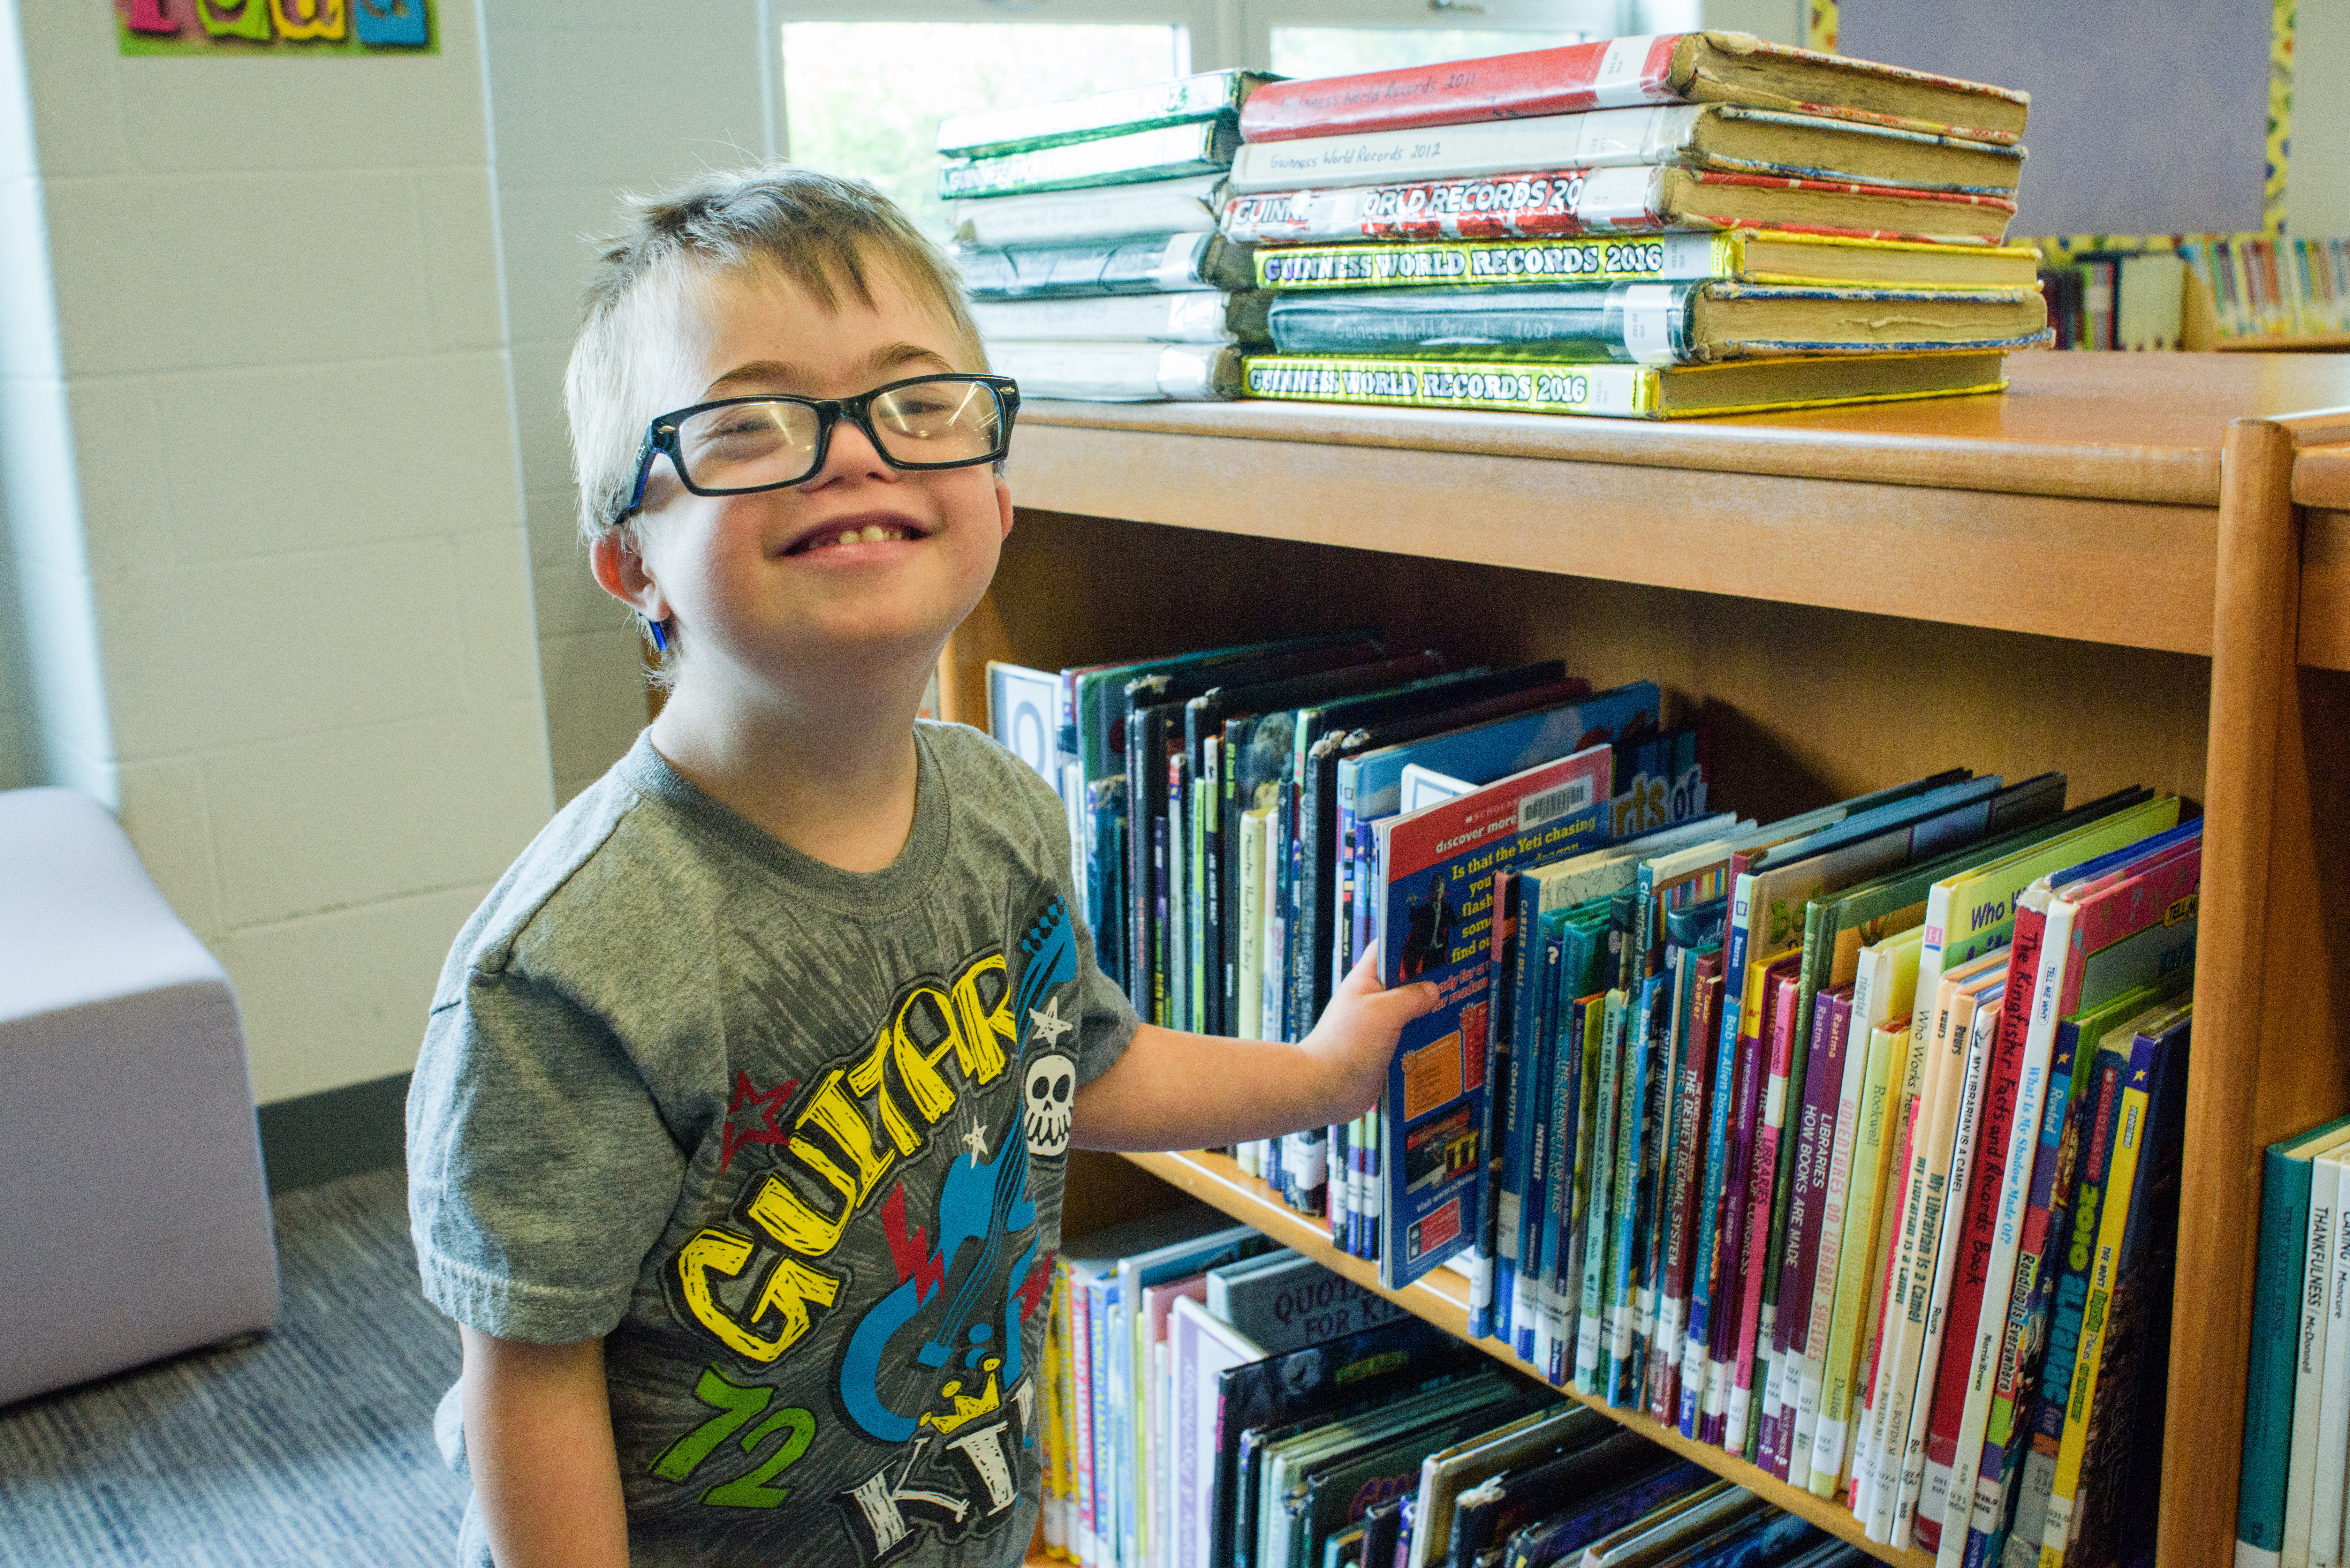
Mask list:
[[[1466,414],[1304,402],[1029,402],[1020,423],[1699,468],[2026,496],[2218,503],[2230,418],[2301,416],[2350,442],[2350,357],[2019,353],[1981,397],[1701,421]],[[1020,447],[1013,444],[1018,489]]]

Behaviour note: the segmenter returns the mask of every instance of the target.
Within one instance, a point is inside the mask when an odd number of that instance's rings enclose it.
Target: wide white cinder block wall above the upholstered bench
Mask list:
[[[432,56],[122,59],[106,5],[0,0],[21,771],[120,809],[263,1103],[414,1065],[552,809],[479,12],[437,14]]]

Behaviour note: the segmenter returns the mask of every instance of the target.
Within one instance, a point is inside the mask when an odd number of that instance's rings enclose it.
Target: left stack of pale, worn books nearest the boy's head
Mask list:
[[[989,364],[1029,397],[1231,397],[1264,343],[1215,226],[1238,113],[1274,78],[1154,82],[942,120],[940,193]]]

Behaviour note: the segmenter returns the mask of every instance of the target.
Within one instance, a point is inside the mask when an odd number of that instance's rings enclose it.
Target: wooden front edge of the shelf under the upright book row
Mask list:
[[[1532,1366],[1513,1356],[1509,1349],[1497,1345],[1495,1340],[1469,1340],[1466,1298],[1452,1295],[1443,1284],[1457,1276],[1436,1274],[1403,1291],[1384,1288],[1379,1284],[1377,1262],[1351,1258],[1337,1251],[1321,1225],[1316,1225],[1307,1215],[1283,1204],[1278,1197],[1274,1197],[1271,1187],[1255,1180],[1253,1175],[1246,1175],[1241,1166],[1236,1166],[1231,1159],[1222,1154],[1208,1154],[1203,1150],[1191,1150],[1180,1154],[1128,1154],[1126,1159],[1142,1166],[1163,1182],[1189,1192],[1203,1204],[1222,1208],[1234,1220],[1255,1225],[1257,1229],[1274,1237],[1283,1246],[1297,1248],[1300,1253],[1314,1258],[1314,1262],[1321,1262],[1323,1267],[1344,1274],[1358,1286],[1377,1291],[1379,1295],[1396,1302],[1412,1316],[1436,1324],[1445,1333],[1466,1340],[1473,1349],[1485,1352],[1495,1361],[1502,1361],[1504,1366],[1511,1366],[1518,1373],[1525,1373],[1528,1378],[1542,1375]],[[1868,1535],[1861,1533],[1859,1521],[1840,1500],[1831,1502],[1814,1497],[1812,1493],[1788,1486],[1779,1476],[1772,1476],[1765,1469],[1748,1465],[1746,1460],[1730,1458],[1727,1453],[1713,1448],[1711,1443],[1685,1439],[1680,1436],[1680,1432],[1661,1427],[1638,1410],[1617,1410],[1598,1399],[1577,1394],[1574,1389],[1558,1389],[1558,1394],[1591,1406],[1607,1420],[1614,1420],[1638,1432],[1652,1443],[1671,1448],[1685,1460],[1704,1465],[1713,1474],[1744,1486],[1746,1490],[1762,1497],[1772,1507],[1781,1507],[1788,1514],[1800,1514],[1802,1519],[1810,1519],[1821,1530],[1828,1530],[1838,1540],[1852,1542],[1854,1547],[1868,1552],[1878,1561],[1894,1563],[1896,1568],[1932,1568],[1934,1563],[1932,1552],[1920,1552],[1920,1549],[1896,1552],[1892,1547],[1868,1540]],[[1043,1559],[1032,1559],[1032,1561],[1041,1563]]]

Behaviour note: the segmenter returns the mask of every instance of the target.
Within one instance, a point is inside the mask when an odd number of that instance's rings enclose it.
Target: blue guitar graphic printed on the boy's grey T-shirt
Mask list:
[[[1029,922],[1020,952],[1015,1063],[1027,1056],[1032,1011],[1076,978],[1076,933],[1058,898]],[[935,1246],[912,1267],[900,1258],[898,1288],[865,1312],[841,1352],[841,1408],[877,1441],[905,1443],[942,1396],[952,1406],[945,1382],[956,1392],[989,1378],[1003,1389],[1020,1382],[1020,1284],[1036,1262],[1036,1206],[1018,1103],[992,1140],[989,1157],[989,1133],[966,1131],[971,1152],[954,1157],[938,1194]]]

